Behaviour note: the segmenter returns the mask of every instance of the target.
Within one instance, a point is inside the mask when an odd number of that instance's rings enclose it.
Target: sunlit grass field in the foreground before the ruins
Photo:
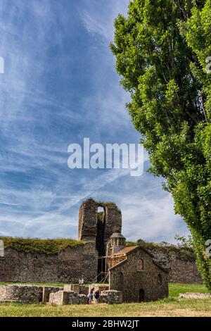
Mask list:
[[[0,316],[49,316],[49,317],[142,317],[142,316],[209,316],[211,317],[211,299],[178,299],[179,293],[206,293],[204,285],[170,284],[170,297],[156,302],[122,305],[82,305],[48,306],[44,304],[0,304]]]

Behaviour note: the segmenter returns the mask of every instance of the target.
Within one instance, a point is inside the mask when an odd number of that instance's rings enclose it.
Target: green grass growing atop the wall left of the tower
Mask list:
[[[15,249],[25,253],[37,253],[45,255],[56,255],[66,247],[77,247],[87,244],[75,239],[23,239],[0,237],[5,248]]]

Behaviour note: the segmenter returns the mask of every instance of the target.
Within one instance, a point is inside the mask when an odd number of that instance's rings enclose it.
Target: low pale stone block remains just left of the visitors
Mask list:
[[[58,291],[51,293],[49,297],[49,304],[52,305],[67,305],[67,304],[87,304],[87,296],[78,294],[73,291]]]

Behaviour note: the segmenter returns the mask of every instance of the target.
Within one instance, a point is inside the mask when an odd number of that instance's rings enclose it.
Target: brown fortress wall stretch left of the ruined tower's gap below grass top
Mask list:
[[[0,257],[0,282],[93,282],[97,275],[94,243],[67,247],[50,256],[5,249]]]

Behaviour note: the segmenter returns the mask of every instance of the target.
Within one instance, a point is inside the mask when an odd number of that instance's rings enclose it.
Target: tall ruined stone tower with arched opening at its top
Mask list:
[[[99,211],[101,208],[101,211]],[[84,201],[79,208],[79,240],[94,241],[98,256],[106,255],[106,246],[113,233],[121,233],[122,213],[112,203],[97,202],[93,199]],[[104,262],[103,262],[104,263]],[[98,261],[98,273],[105,266]]]

